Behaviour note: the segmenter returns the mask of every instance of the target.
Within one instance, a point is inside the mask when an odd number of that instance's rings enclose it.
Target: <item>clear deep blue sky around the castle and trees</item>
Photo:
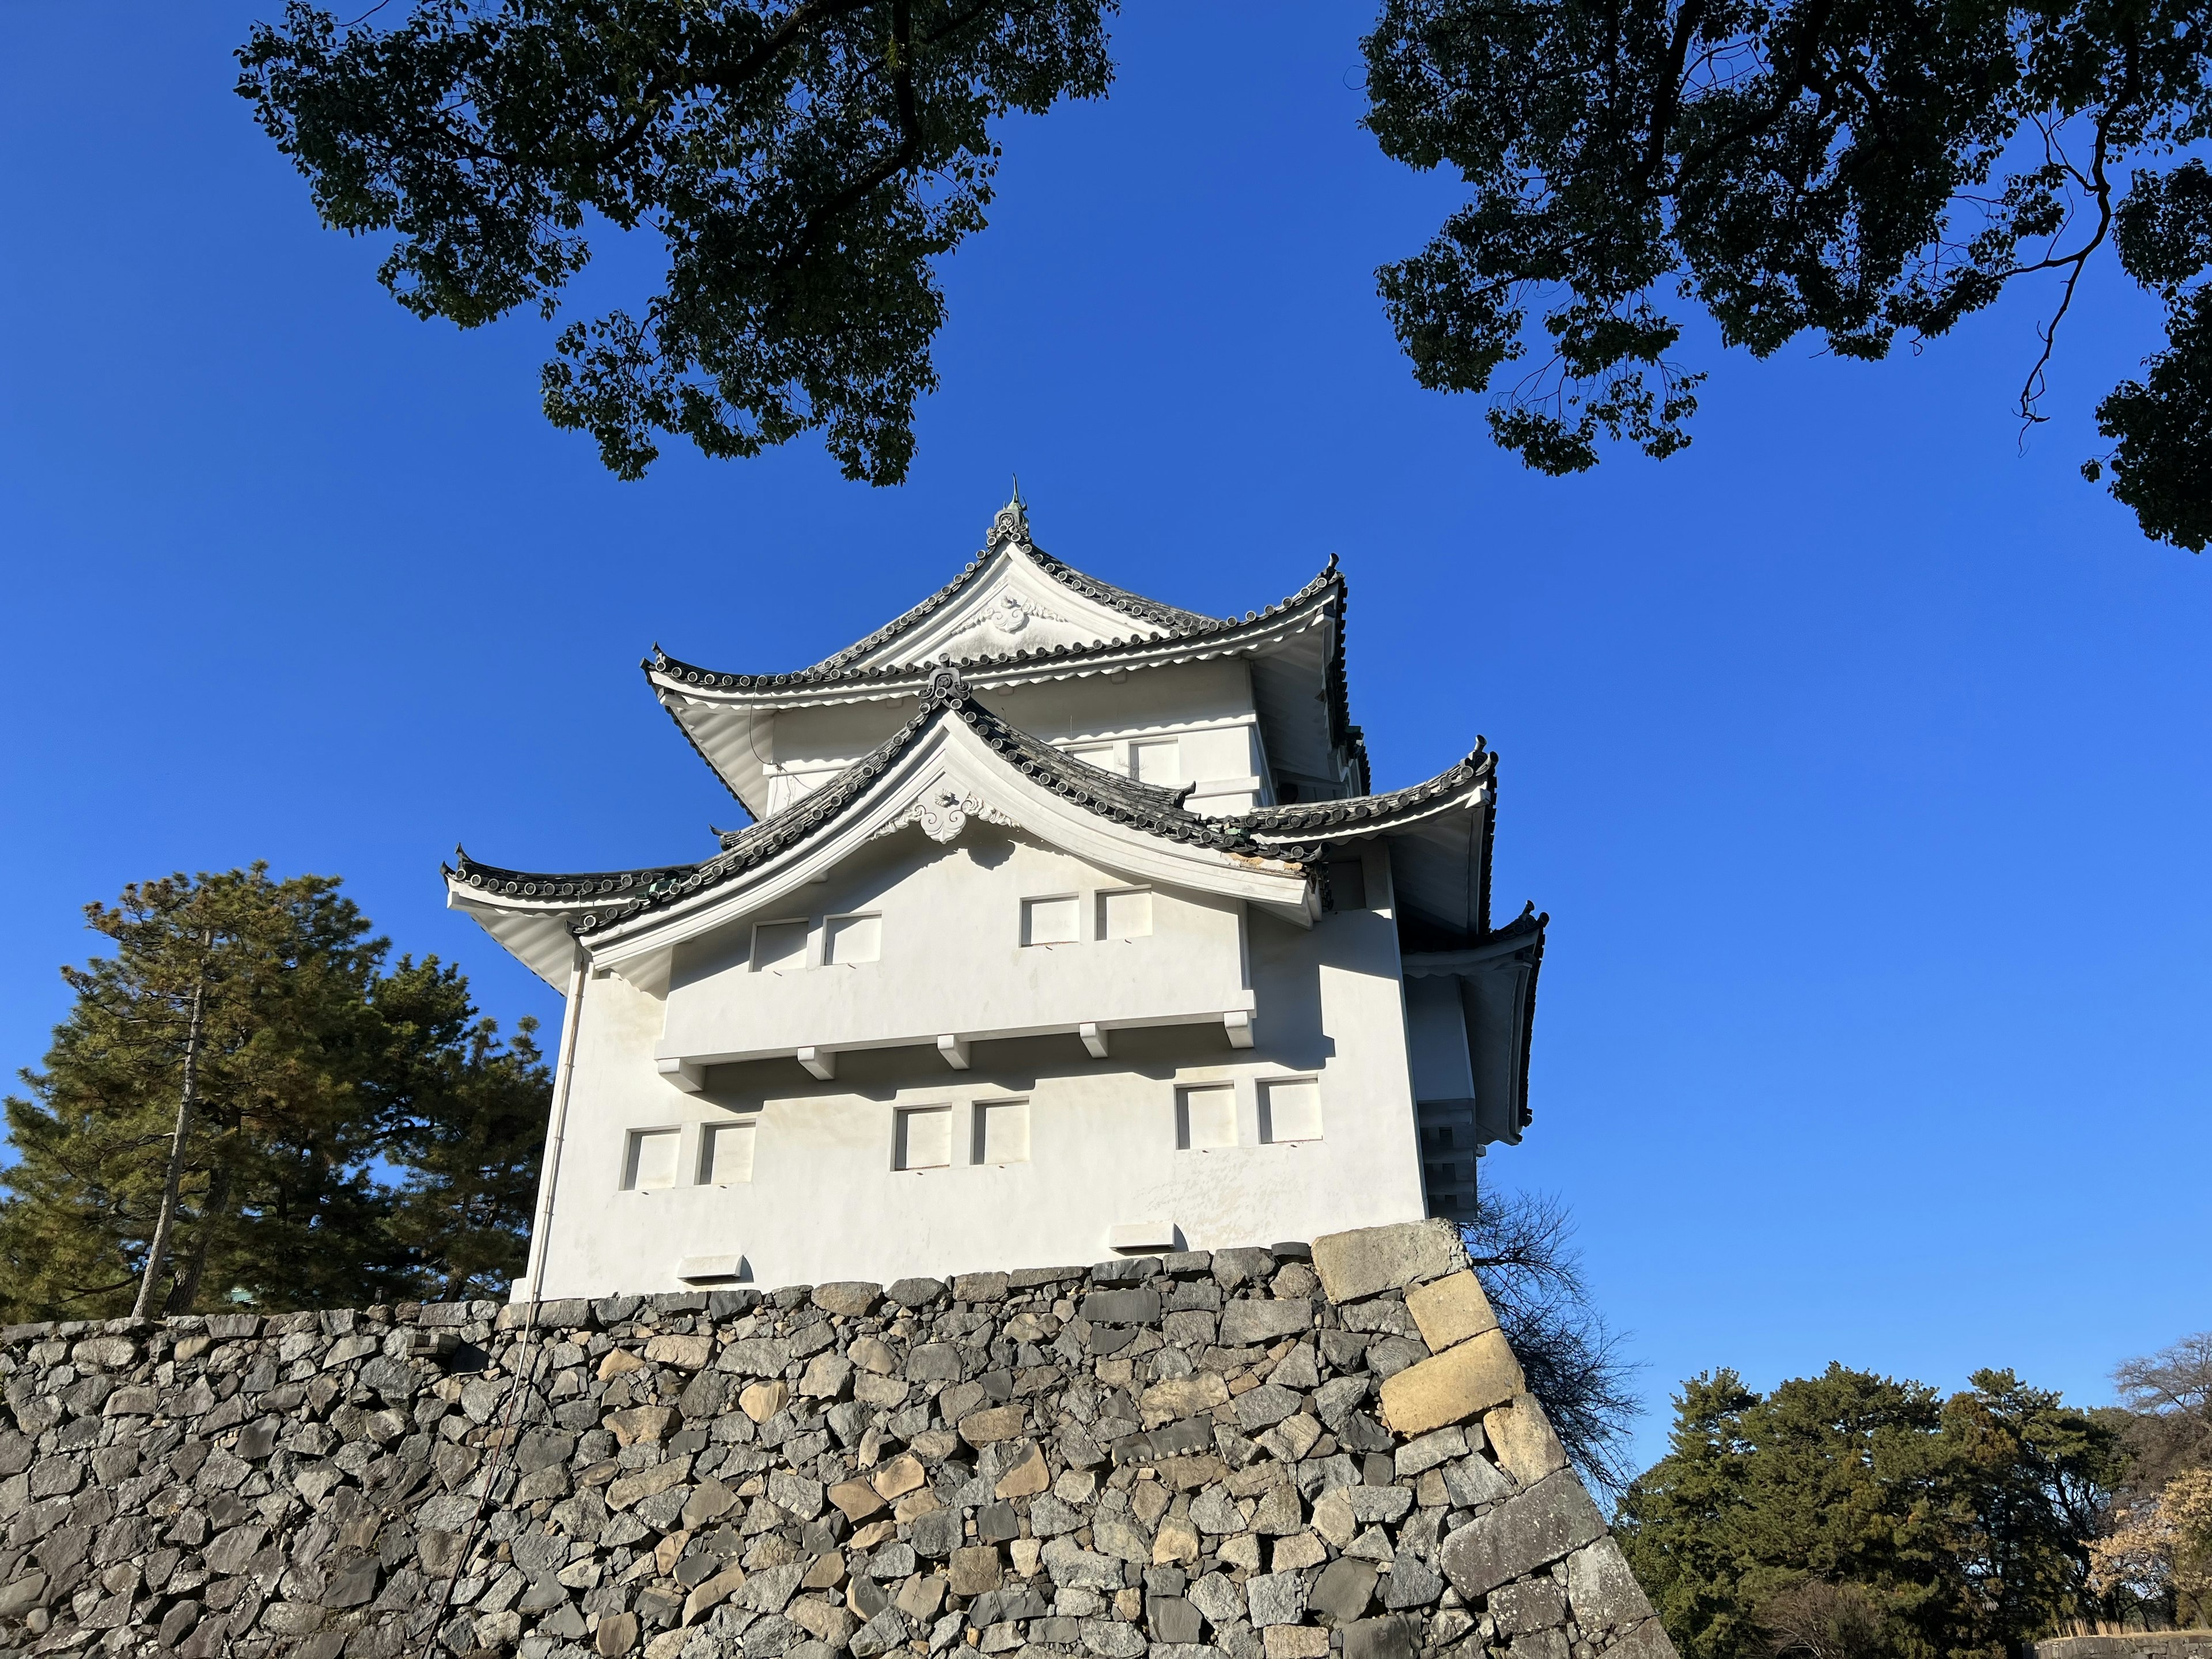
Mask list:
[[[265,11],[268,7],[263,7]],[[1655,1411],[1829,1358],[2106,1398],[2212,1325],[2212,566],[2077,478],[2154,345],[2106,265],[1924,354],[1721,354],[1697,445],[1546,480],[1413,387],[1374,268],[1449,181],[1358,131],[1360,7],[1133,4],[1104,104],[1006,128],[902,489],[801,440],[641,484],[538,411],[551,330],[425,325],[230,95],[257,7],[0,15],[0,1060],[80,907],[336,872],[511,1020],[438,860],[692,858],[728,796],[637,672],[790,668],[1037,538],[1245,611],[1340,553],[1383,787],[1484,732],[1498,907],[1553,916],[1535,1128]],[[606,246],[577,303],[635,301]]]

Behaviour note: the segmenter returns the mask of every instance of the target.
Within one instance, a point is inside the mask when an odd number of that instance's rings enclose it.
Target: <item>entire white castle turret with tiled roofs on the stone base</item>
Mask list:
[[[750,827],[445,872],[566,993],[518,1296],[1464,1219],[1520,1141],[1544,918],[1489,920],[1495,754],[1369,792],[1336,560],[1203,617],[1015,498],[814,668],[646,679]]]

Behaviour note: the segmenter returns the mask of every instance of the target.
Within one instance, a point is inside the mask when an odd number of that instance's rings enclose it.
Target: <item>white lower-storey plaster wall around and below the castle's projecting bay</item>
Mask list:
[[[1387,889],[1378,874],[1376,889]],[[577,1013],[575,1084],[553,1192],[544,1296],[681,1290],[681,1256],[743,1254],[759,1285],[891,1281],[1009,1263],[1091,1263],[1108,1230],[1170,1221],[1217,1250],[1312,1239],[1422,1214],[1396,927],[1387,909],[1314,929],[1248,925],[1256,1044],[1219,1029],[1121,1033],[1108,1060],[1075,1037],[978,1044],[956,1073],[927,1048],[854,1055],[816,1084],[787,1060],[719,1066],[686,1095],[653,1066],[664,1004],[591,978]],[[1323,1139],[1259,1144],[1259,1084],[1316,1077]],[[1177,1084],[1228,1082],[1239,1144],[1179,1150]],[[973,1166],[964,1113],[1029,1099],[1029,1161]],[[894,1170],[900,1106],[956,1108],[956,1161]],[[757,1121],[752,1181],[624,1192],[630,1130]]]

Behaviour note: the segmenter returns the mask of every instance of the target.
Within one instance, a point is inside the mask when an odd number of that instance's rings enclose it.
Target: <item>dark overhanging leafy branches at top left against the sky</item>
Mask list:
[[[586,221],[650,226],[666,288],[577,321],[546,416],[637,478],[655,434],[754,456],[821,429],[896,484],[936,387],[933,261],[980,230],[993,119],[1099,97],[1113,0],[292,0],[239,62],[323,223],[396,232],[418,316],[553,316]],[[374,18],[372,13],[365,13]]]

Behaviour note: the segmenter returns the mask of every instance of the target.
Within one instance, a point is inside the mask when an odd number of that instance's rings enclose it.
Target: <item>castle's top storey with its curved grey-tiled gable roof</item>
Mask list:
[[[1334,557],[1281,604],[1206,617],[1044,553],[1020,495],[951,582],[812,668],[726,672],[659,650],[644,668],[730,792],[770,818],[883,745],[947,664],[1006,726],[1179,792],[1194,814],[1367,794]]]

